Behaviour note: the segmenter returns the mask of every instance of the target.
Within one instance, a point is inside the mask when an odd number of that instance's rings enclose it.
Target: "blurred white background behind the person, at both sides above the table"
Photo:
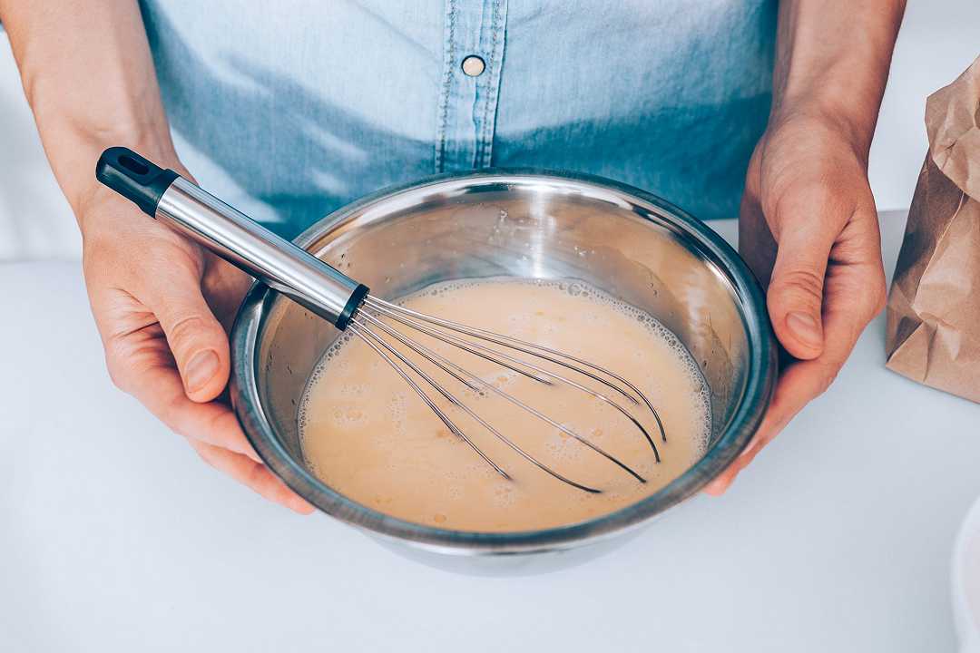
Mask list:
[[[871,148],[880,210],[907,208],[926,149],[929,93],[980,55],[980,1],[908,0],[888,91]],[[74,258],[80,239],[55,183],[6,35],[0,34],[0,260]]]

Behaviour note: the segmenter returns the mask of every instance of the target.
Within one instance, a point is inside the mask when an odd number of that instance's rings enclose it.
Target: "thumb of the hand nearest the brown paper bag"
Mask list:
[[[823,351],[823,277],[833,238],[816,225],[801,226],[780,234],[766,303],[780,344],[809,359]]]

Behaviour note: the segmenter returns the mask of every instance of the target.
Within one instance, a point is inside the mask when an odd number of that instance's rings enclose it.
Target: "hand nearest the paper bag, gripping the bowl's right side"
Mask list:
[[[739,249],[767,288],[785,350],[775,396],[752,443],[706,489],[720,494],[833,382],[885,305],[867,152],[827,117],[773,116],[749,163]]]

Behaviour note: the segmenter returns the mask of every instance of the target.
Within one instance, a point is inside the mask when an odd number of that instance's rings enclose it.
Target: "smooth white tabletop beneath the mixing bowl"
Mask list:
[[[889,271],[903,226],[883,216]],[[0,288],[0,651],[956,647],[980,406],[887,371],[883,317],[723,497],[584,566],[497,579],[205,466],[111,385],[76,264],[0,266]]]

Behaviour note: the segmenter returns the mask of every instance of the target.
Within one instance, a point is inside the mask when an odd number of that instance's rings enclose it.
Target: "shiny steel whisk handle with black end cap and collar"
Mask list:
[[[96,178],[145,213],[345,329],[368,287],[132,150],[109,148]]]

